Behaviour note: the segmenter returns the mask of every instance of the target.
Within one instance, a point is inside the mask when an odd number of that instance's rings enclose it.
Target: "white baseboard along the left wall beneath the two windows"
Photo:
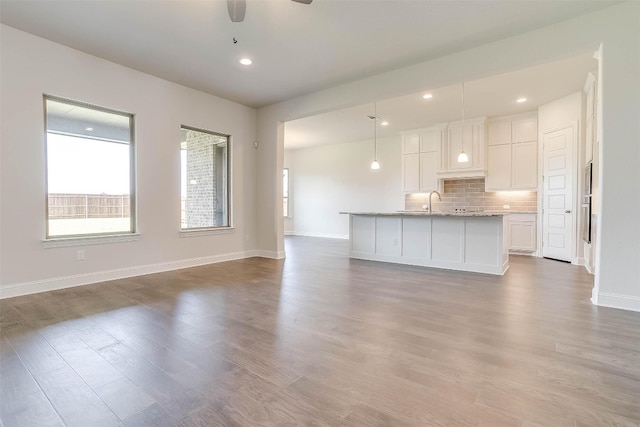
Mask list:
[[[32,282],[0,285],[0,299],[53,291],[56,289],[72,288],[74,286],[90,285],[92,283],[106,282],[109,280],[125,279],[127,277],[143,276],[145,274],[162,273],[164,271],[179,270],[182,268],[197,267],[200,265],[215,264],[218,262],[233,261],[237,259],[252,257],[275,258],[272,256],[265,256],[265,253],[267,252],[270,251],[243,251],[159,264],[119,268],[116,270],[97,271],[94,273],[77,274],[73,276],[55,277],[52,279],[34,280]]]

